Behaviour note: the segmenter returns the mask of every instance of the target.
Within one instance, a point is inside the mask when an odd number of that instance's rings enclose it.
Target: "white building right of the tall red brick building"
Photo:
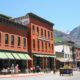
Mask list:
[[[72,47],[73,42],[71,41],[63,41],[55,44],[54,51],[56,54],[57,68],[64,66],[64,63],[73,63]]]

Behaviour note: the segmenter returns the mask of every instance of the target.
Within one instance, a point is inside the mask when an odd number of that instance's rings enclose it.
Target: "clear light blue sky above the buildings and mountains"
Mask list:
[[[0,13],[13,18],[33,12],[69,33],[80,25],[80,0],[0,0]]]

